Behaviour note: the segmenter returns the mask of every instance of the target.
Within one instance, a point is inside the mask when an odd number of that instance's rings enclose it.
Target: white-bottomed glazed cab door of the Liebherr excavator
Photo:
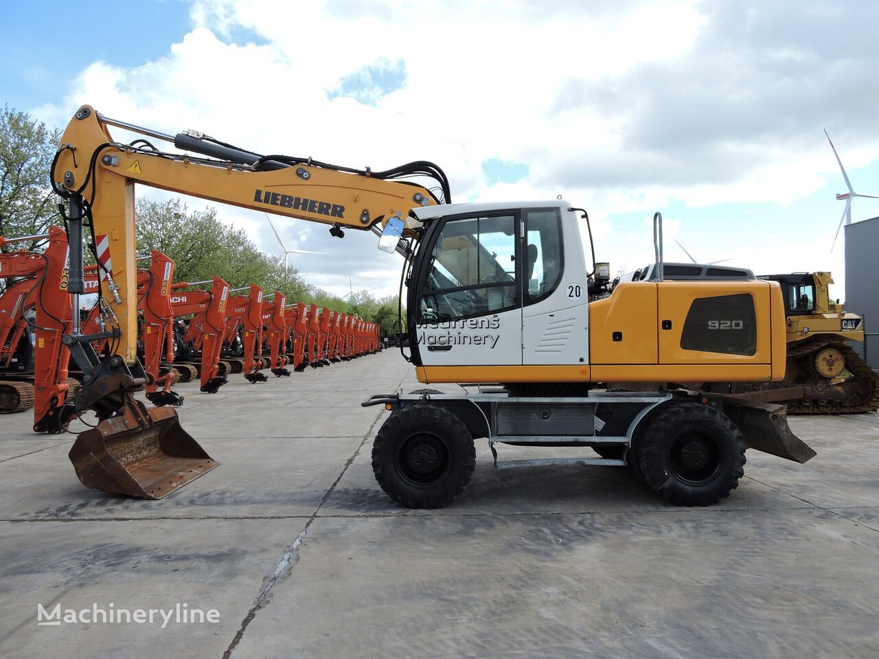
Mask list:
[[[415,336],[422,366],[519,366],[519,210],[439,222],[417,268]]]

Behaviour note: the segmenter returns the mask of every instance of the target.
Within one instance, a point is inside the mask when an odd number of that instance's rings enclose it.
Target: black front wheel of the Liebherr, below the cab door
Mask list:
[[[372,457],[381,489],[407,508],[446,505],[464,491],[476,467],[467,426],[454,412],[429,402],[389,416],[375,436]],[[431,472],[419,471],[431,462],[437,463]]]

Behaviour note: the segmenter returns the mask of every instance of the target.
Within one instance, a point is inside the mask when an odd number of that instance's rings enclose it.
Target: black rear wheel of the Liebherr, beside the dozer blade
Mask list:
[[[654,492],[676,505],[708,506],[745,474],[745,439],[722,412],[696,402],[660,408],[639,432],[633,459]]]

